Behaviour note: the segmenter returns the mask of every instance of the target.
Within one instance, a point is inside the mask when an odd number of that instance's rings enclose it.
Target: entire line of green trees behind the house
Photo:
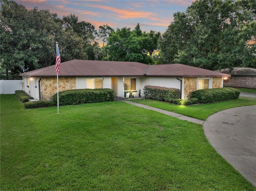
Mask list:
[[[0,18],[2,79],[16,78],[21,66],[31,71],[54,65],[56,42],[62,62],[108,59],[210,70],[256,68],[256,1],[196,0],[186,12],[174,14],[162,35],[142,32],[139,24],[134,30],[114,30],[106,24],[97,31],[74,14],[60,19],[49,10],[27,10],[13,0],[1,0]]]

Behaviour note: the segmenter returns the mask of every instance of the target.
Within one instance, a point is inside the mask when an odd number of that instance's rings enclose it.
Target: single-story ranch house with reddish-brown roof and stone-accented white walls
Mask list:
[[[38,100],[52,100],[57,93],[55,66],[20,74],[24,91]],[[223,87],[228,74],[182,64],[146,65],[138,62],[71,60],[60,64],[59,92],[71,89],[110,88],[118,97],[132,90],[138,96],[145,85],[181,89],[181,98],[193,91]]]

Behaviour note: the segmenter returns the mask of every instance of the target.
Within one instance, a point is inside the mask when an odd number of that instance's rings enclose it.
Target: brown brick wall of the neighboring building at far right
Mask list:
[[[256,89],[256,76],[232,76],[228,82],[223,82],[223,86]]]

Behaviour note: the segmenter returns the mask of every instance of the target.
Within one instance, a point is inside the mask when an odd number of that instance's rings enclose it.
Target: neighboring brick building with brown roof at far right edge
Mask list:
[[[234,68],[231,72],[228,69],[222,69],[220,72],[231,75],[228,80],[224,80],[223,86],[256,89],[255,68]]]

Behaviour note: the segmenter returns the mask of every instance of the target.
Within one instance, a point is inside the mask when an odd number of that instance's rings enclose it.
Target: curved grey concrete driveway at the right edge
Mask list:
[[[212,114],[203,128],[218,154],[256,186],[256,106]]]

